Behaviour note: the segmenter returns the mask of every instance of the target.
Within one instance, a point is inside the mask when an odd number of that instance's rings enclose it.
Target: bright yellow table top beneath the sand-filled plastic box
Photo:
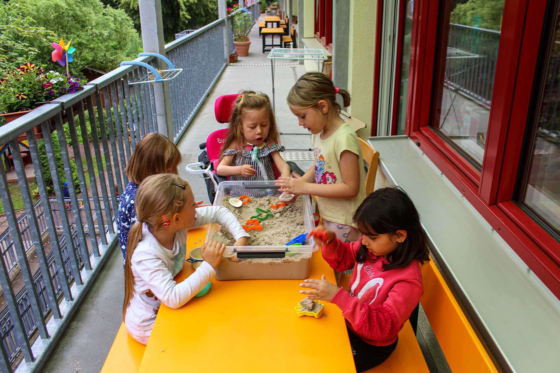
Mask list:
[[[206,227],[189,231],[187,252]],[[188,262],[175,277],[192,273]],[[310,278],[334,272],[320,251],[311,259]],[[162,305],[139,373],[153,372],[355,372],[340,309],[325,304],[319,319],[296,315],[304,299],[301,280],[212,279],[207,295],[179,309]],[[264,309],[264,310],[262,310]]]

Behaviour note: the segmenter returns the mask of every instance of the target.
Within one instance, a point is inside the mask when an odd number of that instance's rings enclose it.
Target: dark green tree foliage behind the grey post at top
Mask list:
[[[124,10],[140,29],[138,0],[120,0],[119,8]],[[194,30],[218,19],[217,0],[161,0],[166,43],[175,40],[175,34],[183,30]]]

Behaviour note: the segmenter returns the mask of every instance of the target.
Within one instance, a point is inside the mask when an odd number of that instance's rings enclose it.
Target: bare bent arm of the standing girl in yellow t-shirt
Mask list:
[[[310,194],[326,198],[353,198],[360,192],[360,165],[357,154],[344,150],[340,154],[340,175],[344,182],[334,184],[315,184],[315,180],[309,181],[311,169],[304,177],[289,178],[280,177],[276,181],[279,190],[294,194]]]

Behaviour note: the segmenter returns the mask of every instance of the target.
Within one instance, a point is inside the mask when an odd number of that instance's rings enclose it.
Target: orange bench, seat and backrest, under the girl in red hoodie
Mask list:
[[[350,276],[346,274],[340,276],[340,285],[344,289],[348,289]],[[422,266],[422,277],[424,295],[420,299],[420,304],[451,371],[497,373],[498,370],[431,259]],[[416,335],[410,327],[410,321],[407,321],[400,330],[399,343],[391,356],[384,363],[367,372],[429,372]]]

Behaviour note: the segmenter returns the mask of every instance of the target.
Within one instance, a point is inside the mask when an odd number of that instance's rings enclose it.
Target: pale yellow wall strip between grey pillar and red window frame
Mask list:
[[[371,133],[377,1],[350,1],[348,90],[352,100],[349,112],[367,125],[358,131],[362,138]]]

